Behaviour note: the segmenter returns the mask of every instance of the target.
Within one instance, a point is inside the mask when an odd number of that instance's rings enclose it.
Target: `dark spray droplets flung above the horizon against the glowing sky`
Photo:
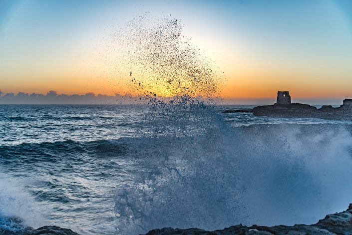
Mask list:
[[[132,93],[148,99],[219,96],[223,80],[219,67],[183,34],[183,26],[171,16],[145,13],[110,35],[111,51],[118,51],[116,69],[129,81]]]

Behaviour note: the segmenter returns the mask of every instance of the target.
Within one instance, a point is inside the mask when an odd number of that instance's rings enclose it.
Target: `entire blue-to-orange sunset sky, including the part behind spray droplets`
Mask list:
[[[4,94],[352,96],[349,1],[16,2],[0,7]]]

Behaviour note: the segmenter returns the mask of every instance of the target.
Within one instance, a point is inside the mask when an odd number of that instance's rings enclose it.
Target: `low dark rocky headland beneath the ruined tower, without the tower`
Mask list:
[[[352,120],[352,99],[344,99],[343,105],[334,108],[324,105],[317,109],[308,104],[273,104],[257,106],[253,109],[225,110],[224,113],[253,113],[255,116],[321,118],[336,120]]]

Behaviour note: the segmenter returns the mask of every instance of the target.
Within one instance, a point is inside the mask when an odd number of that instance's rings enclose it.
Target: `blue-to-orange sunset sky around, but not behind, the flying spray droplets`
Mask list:
[[[146,11],[182,21],[235,103],[278,90],[311,103],[352,98],[351,0],[0,0],[1,91],[131,93],[104,56],[113,28]]]

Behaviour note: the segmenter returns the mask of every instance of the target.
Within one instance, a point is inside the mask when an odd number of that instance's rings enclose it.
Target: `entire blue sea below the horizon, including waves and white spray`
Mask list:
[[[0,105],[0,231],[312,224],[352,202],[352,122],[191,105]]]

